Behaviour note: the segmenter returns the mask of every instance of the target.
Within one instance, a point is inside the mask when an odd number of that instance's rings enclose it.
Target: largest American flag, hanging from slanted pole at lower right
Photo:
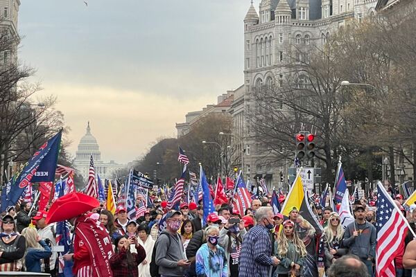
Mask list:
[[[403,253],[404,238],[412,229],[381,182],[377,189],[376,276],[395,277],[395,257]]]

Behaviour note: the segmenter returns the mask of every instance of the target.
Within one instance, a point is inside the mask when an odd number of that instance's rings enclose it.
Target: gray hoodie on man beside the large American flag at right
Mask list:
[[[355,229],[358,231],[356,238],[352,235]],[[376,229],[369,222],[358,224],[354,221],[345,229],[343,245],[349,248],[349,254],[354,254],[361,260],[367,260],[370,256],[374,258],[376,256]]]

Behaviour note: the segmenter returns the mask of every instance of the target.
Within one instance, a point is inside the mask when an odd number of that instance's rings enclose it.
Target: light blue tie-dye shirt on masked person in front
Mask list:
[[[227,277],[227,258],[223,247],[217,245],[214,252],[208,244],[202,244],[196,252],[196,274],[198,277]]]

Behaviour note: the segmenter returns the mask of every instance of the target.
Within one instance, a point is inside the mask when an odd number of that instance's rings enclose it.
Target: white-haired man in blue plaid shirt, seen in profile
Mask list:
[[[280,260],[272,256],[270,230],[274,228],[271,207],[260,207],[256,212],[257,225],[245,235],[241,247],[239,277],[268,276]]]

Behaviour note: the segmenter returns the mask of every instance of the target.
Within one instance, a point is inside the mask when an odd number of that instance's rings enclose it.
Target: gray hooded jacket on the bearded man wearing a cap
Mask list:
[[[155,263],[159,266],[159,274],[184,276],[185,268],[177,266],[177,261],[186,259],[179,234],[163,232],[159,235],[156,245]]]

